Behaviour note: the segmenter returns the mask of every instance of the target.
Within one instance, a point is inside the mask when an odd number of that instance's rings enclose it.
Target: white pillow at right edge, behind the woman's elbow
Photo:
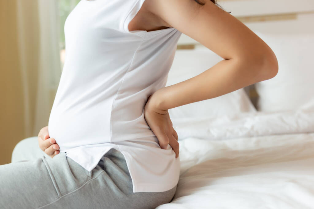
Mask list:
[[[271,35],[255,32],[275,53],[279,70],[272,79],[255,84],[257,110],[289,111],[314,98],[314,35]]]

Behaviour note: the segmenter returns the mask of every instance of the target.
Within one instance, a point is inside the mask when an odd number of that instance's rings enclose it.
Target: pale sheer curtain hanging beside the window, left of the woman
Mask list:
[[[61,76],[58,2],[18,0],[19,57],[25,137],[48,125]]]

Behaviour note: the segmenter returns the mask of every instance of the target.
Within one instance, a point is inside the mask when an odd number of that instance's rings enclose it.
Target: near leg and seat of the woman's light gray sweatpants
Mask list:
[[[169,203],[165,192],[133,193],[123,154],[110,149],[90,172],[64,152],[50,158],[0,165],[0,208],[155,208]]]

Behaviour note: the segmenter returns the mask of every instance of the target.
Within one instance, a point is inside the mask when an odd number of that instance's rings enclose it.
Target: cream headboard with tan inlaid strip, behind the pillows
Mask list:
[[[217,3],[252,31],[266,34],[314,34],[314,0],[218,0]],[[206,49],[189,36],[181,35],[177,50],[198,48]],[[254,85],[244,89],[256,107],[258,95]]]

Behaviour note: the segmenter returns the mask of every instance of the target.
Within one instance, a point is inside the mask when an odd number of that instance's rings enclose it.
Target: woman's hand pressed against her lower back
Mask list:
[[[177,158],[179,156],[178,134],[172,127],[168,110],[159,110],[154,102],[156,99],[154,94],[148,97],[144,107],[144,118],[149,128],[156,135],[160,148],[167,149],[169,144],[176,153]]]

